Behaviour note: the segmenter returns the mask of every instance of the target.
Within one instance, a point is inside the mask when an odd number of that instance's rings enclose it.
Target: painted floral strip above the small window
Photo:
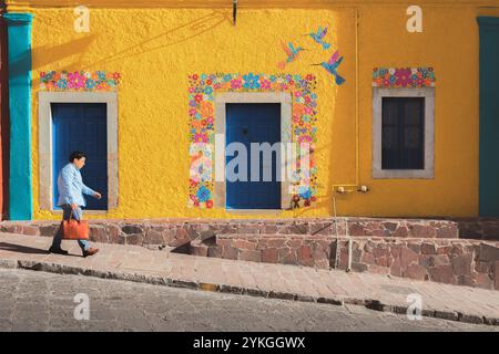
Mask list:
[[[426,67],[375,67],[373,86],[383,88],[435,87],[437,79],[431,66]]]

